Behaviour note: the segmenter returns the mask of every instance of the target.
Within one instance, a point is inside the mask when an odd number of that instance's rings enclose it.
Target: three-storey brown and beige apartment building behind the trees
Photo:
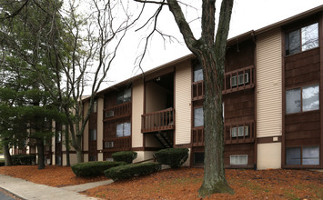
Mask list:
[[[323,168],[322,25],[321,5],[227,41],[222,91],[227,168]],[[202,166],[203,99],[202,69],[194,55],[100,91],[86,125],[85,161],[132,150],[136,162],[162,148],[187,147],[186,165]],[[52,141],[56,165],[65,162],[62,141]],[[76,161],[75,154],[71,158]]]

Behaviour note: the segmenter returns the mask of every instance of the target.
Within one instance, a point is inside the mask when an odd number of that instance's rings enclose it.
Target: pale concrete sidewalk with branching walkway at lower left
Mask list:
[[[24,179],[15,178],[8,175],[0,175],[0,187],[23,199],[28,200],[96,199],[94,197],[88,197],[86,195],[78,194],[77,192],[85,191],[86,189],[93,188],[98,185],[111,184],[112,182],[112,180],[107,180],[83,185],[72,185],[58,188],[47,185],[35,184],[32,182],[28,182]]]

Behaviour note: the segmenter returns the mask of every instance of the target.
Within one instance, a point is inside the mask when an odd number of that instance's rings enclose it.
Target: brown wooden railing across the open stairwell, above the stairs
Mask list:
[[[168,108],[141,115],[141,133],[173,130],[175,128],[174,114],[174,108]]]

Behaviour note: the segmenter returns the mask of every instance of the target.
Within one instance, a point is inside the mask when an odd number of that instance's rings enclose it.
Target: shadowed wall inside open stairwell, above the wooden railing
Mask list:
[[[146,82],[146,113],[164,110],[167,108],[167,91],[154,82]]]

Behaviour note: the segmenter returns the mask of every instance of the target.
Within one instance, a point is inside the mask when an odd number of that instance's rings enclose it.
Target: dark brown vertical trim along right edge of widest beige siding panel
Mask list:
[[[286,115],[286,91],[285,91],[285,32],[281,31],[281,95],[282,95],[282,140],[281,140],[281,167],[285,167],[285,115]]]

